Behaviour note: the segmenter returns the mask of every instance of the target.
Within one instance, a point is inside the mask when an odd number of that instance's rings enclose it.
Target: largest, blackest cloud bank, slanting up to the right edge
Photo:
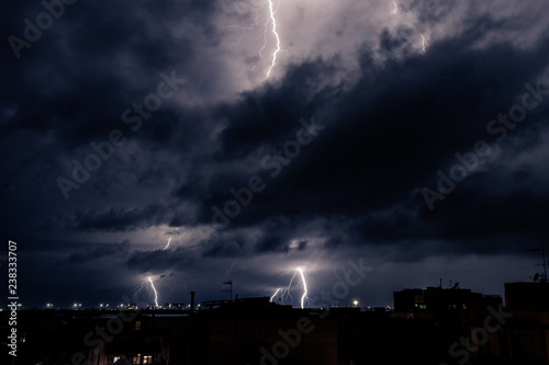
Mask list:
[[[472,49],[469,45],[474,41],[473,34],[485,32],[485,22],[474,22],[463,36],[433,44],[426,55],[391,61],[382,69],[365,54],[363,72],[356,87],[344,95],[330,92],[337,95],[330,100],[320,95],[310,98],[307,90],[283,87],[281,98],[271,101],[272,92],[257,96],[264,110],[273,111],[280,100],[285,101],[284,110],[290,111],[294,105],[292,100],[299,103],[312,99],[310,105],[301,105],[301,110],[311,111],[329,103],[338,111],[337,122],[330,121],[328,132],[285,167],[284,173],[269,183],[233,224],[255,225],[285,216],[298,219],[292,225],[299,225],[300,220],[318,216],[344,215],[351,221],[359,217],[352,224],[357,243],[449,239],[459,247],[464,238],[495,238],[508,231],[524,233],[531,243],[542,242],[548,233],[539,218],[547,206],[547,192],[542,187],[525,194],[512,175],[501,176],[497,171],[489,170],[468,178],[459,186],[459,193],[440,202],[439,212],[427,212],[419,194],[421,187],[436,184],[438,169],[449,169],[455,163],[456,152],[471,150],[479,139],[494,142],[494,136],[486,133],[486,124],[498,113],[506,113],[516,98],[526,92],[524,84],[535,84],[549,65],[547,39],[526,50],[508,43]],[[289,79],[307,75],[307,66],[290,71]],[[307,80],[313,84],[318,82],[310,75]],[[549,85],[544,88],[547,90]],[[265,119],[262,111],[249,107],[248,96],[243,107],[238,104],[233,107],[238,113],[226,113],[234,121],[223,134],[226,149],[220,155],[232,156],[243,148],[254,151],[264,146],[262,136],[278,137],[279,130],[283,130],[281,126],[291,128],[288,118]],[[540,147],[541,140],[520,136],[537,130],[546,113],[547,106],[542,106],[520,125],[514,138],[516,148],[531,144]],[[257,140],[256,134],[250,133],[253,124],[261,128]],[[277,139],[283,138],[271,138]],[[236,180],[238,176],[244,186],[246,176],[236,175]],[[228,182],[225,191],[238,186],[234,176],[220,179]],[[489,194],[491,186],[502,184],[504,196],[480,198]],[[217,203],[222,206],[229,198],[225,194]],[[258,242],[257,248],[265,250],[281,241],[277,233]],[[503,244],[507,246],[511,242]],[[467,247],[475,250],[478,246]],[[523,250],[516,244],[514,249]]]

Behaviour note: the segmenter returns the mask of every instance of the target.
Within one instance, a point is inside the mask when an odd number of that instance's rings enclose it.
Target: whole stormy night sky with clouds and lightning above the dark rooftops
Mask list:
[[[338,303],[386,306],[539,271],[547,1],[47,1],[0,12],[25,307],[271,296],[296,267],[314,307],[349,260]]]

